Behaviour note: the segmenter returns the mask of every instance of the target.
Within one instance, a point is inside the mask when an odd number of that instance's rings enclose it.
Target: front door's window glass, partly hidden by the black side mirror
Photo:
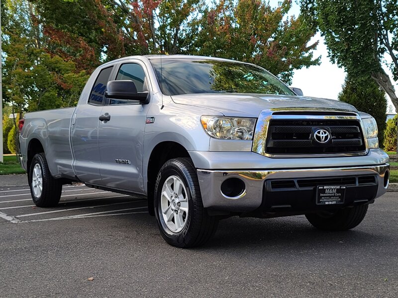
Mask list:
[[[137,88],[137,92],[148,91],[147,79],[144,70],[139,64],[126,63],[123,64],[117,73],[116,80],[132,80]],[[129,104],[128,100],[111,99],[109,104]]]

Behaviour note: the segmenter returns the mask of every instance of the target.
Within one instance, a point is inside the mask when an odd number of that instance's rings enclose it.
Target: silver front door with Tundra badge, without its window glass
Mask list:
[[[117,66],[116,80],[132,80],[138,92],[152,94],[146,67],[129,60]],[[99,150],[102,185],[120,190],[144,193],[142,153],[146,115],[149,104],[128,100],[107,100],[101,115],[109,121],[99,126]]]

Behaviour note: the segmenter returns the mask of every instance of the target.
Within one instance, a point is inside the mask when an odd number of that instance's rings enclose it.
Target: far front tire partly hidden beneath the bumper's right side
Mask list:
[[[365,218],[368,205],[345,208],[333,214],[307,214],[305,217],[321,230],[343,231],[356,227]]]

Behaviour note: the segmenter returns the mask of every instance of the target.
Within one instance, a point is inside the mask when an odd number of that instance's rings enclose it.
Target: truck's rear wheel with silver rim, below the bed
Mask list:
[[[51,176],[44,153],[33,156],[29,169],[29,186],[37,207],[57,206],[61,198],[62,183]]]

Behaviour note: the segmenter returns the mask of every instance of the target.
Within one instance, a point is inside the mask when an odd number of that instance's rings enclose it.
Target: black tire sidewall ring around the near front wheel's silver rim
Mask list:
[[[167,178],[173,175],[178,176],[183,181],[185,189],[187,191],[186,195],[188,199],[187,221],[184,228],[178,233],[172,232],[167,227],[163,219],[162,209],[160,207],[163,184],[165,183]],[[155,186],[155,216],[157,223],[159,225],[162,236],[166,239],[166,241],[169,243],[170,242],[175,243],[177,245],[184,243],[184,239],[190,230],[192,218],[194,216],[193,215],[194,203],[192,197],[194,191],[193,191],[193,186],[190,185],[188,181],[189,181],[189,176],[186,172],[185,167],[181,167],[180,164],[176,162],[168,162],[167,165],[165,164],[165,166],[162,167],[162,169],[160,170],[157,179],[157,184]]]

